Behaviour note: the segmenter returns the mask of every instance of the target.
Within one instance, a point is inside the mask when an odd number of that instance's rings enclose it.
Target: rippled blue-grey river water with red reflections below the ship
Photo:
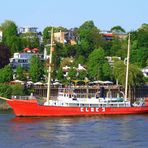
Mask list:
[[[148,115],[18,118],[0,113],[0,148],[147,148]]]

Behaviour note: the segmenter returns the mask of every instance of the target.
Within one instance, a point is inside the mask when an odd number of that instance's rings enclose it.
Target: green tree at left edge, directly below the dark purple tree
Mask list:
[[[10,65],[0,69],[0,83],[9,82],[13,79],[13,70]]]

